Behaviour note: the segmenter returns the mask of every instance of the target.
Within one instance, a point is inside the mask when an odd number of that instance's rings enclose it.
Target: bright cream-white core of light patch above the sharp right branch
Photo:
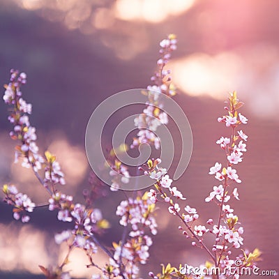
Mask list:
[[[237,86],[241,59],[236,54],[223,52],[216,56],[196,53],[172,63],[174,83],[192,96],[207,94],[224,98],[224,92]]]

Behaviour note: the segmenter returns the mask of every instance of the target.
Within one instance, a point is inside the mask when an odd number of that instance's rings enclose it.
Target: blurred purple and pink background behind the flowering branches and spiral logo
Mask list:
[[[151,84],[158,43],[176,33],[178,50],[169,64],[179,88],[174,100],[188,116],[194,144],[190,165],[176,186],[188,204],[199,209],[202,222],[216,218],[216,206],[204,202],[216,183],[208,175],[209,167],[224,161],[215,142],[228,132],[216,120],[224,113],[227,93],[238,91],[246,103],[241,113],[249,119],[243,126],[249,140],[248,153],[238,167],[243,183],[234,212],[245,229],[244,247],[262,250],[259,266],[275,270],[279,266],[278,10],[276,0],[0,0],[0,84],[8,82],[10,68],[27,73],[23,93],[33,104],[31,125],[37,128],[40,151],[56,154],[66,173],[63,191],[82,202],[82,190],[90,188],[84,134],[91,113],[118,91]],[[1,185],[15,183],[34,202],[44,203],[47,196],[33,174],[13,164],[15,142],[8,137],[7,116],[2,101]],[[102,236],[107,246],[121,239],[122,228],[114,215],[121,199],[119,191],[96,201],[112,224]],[[13,220],[10,206],[1,203],[0,212],[0,278],[43,278],[38,264],[61,262],[66,250],[56,246],[53,236],[69,226],[56,222],[56,213],[37,209],[31,222],[22,225]],[[179,222],[163,204],[157,214],[159,232],[153,238],[151,261],[142,266],[142,278],[148,271],[160,271],[160,263],[198,266],[206,259],[203,250],[179,234]],[[104,262],[105,256],[98,255],[98,261]],[[90,278],[93,272],[86,269],[79,251],[71,256],[69,269],[75,278]]]

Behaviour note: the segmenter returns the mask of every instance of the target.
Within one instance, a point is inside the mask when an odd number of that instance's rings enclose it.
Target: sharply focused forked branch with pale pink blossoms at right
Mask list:
[[[163,200],[169,207],[169,213],[174,216],[178,216],[183,226],[179,226],[186,238],[192,238],[193,246],[204,248],[211,258],[212,264],[216,269],[221,269],[222,274],[225,274],[223,278],[229,277],[229,268],[234,267],[249,267],[254,268],[256,262],[259,260],[261,254],[259,250],[255,249],[254,252],[246,255],[238,255],[235,259],[231,258],[232,250],[239,249],[243,245],[243,227],[240,227],[239,217],[234,214],[234,209],[228,204],[231,197],[239,200],[238,188],[233,187],[235,183],[241,183],[234,165],[241,163],[243,160],[243,152],[246,152],[246,142],[248,136],[243,133],[243,130],[239,130],[241,124],[246,124],[248,119],[239,113],[238,110],[242,107],[243,103],[239,102],[236,98],[236,92],[229,95],[229,105],[225,107],[228,115],[218,118],[218,122],[223,122],[228,128],[231,128],[231,135],[229,137],[221,137],[216,143],[220,145],[221,149],[225,151],[226,156],[226,167],[222,168],[220,163],[216,163],[210,168],[209,174],[215,175],[215,178],[220,181],[219,186],[213,186],[213,191],[206,197],[206,202],[215,201],[219,207],[218,219],[214,223],[213,219],[210,218],[207,221],[207,225],[195,225],[195,221],[199,218],[197,210],[191,208],[189,205],[184,207],[186,213],[181,213],[181,207],[179,206],[179,200],[184,200],[183,194],[176,188],[172,187],[172,179],[167,174],[167,169],[158,167],[161,160],[149,160],[142,169],[144,173],[155,179],[154,183],[155,190],[149,190],[149,199],[151,202],[156,204],[158,200]],[[233,187],[233,188],[232,188]],[[174,201],[175,200],[175,201]],[[213,234],[215,241],[210,248],[210,245],[204,243],[204,235]],[[253,256],[252,256],[253,255]],[[239,262],[236,264],[236,260],[241,259],[241,266]],[[170,267],[169,267],[170,269]],[[186,278],[185,273],[181,273],[178,269],[172,269],[172,272],[180,278]],[[195,274],[187,274],[187,276],[194,276]],[[241,274],[234,274],[234,278],[239,278]],[[160,277],[165,274],[159,274],[153,278],[165,278]],[[190,278],[190,277],[187,277]],[[216,278],[220,278],[220,274],[216,274]]]

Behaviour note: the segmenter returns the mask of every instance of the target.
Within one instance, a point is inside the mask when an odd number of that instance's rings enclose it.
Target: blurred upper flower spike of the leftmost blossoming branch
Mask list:
[[[22,159],[22,167],[32,167],[40,183],[43,183],[49,193],[54,192],[54,185],[65,184],[63,172],[55,156],[46,151],[45,156],[41,156],[36,144],[36,128],[30,125],[29,115],[32,112],[32,105],[22,98],[21,86],[27,83],[27,75],[19,73],[17,70],[10,71],[10,83],[5,85],[6,91],[3,100],[6,104],[12,105],[8,120],[13,124],[13,131],[10,137],[18,140],[19,145],[15,147],[15,163]],[[40,178],[38,171],[45,169],[45,177]]]

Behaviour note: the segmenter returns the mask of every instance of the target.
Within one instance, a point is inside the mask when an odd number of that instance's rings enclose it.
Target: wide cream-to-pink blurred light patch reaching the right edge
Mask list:
[[[278,63],[278,49],[259,43],[212,56],[195,53],[170,65],[174,84],[188,95],[223,100],[227,92],[236,90],[252,112],[270,118],[279,106]]]

